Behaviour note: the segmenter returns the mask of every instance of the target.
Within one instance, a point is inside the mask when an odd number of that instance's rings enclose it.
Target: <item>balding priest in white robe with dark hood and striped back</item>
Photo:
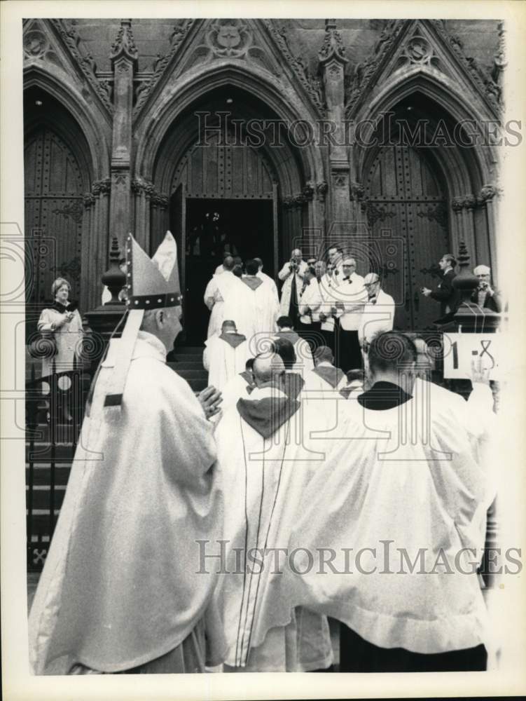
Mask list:
[[[228,646],[225,672],[307,672],[333,662],[324,615],[303,607],[284,611],[280,620],[260,615],[272,607],[280,578],[273,549],[287,540],[310,478],[326,469],[324,451],[310,439],[314,425],[307,416],[298,420],[300,402],[280,388],[282,370],[275,356],[257,357],[256,388],[216,428],[226,495],[227,573],[216,588]]]

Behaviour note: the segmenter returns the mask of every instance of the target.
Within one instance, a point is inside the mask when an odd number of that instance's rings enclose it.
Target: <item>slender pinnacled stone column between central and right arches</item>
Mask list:
[[[350,167],[345,146],[345,90],[343,72],[348,60],[345,47],[336,29],[335,20],[325,20],[325,39],[319,52],[319,69],[325,86],[327,118],[333,123],[333,140],[329,146],[329,183],[332,222],[350,222]]]

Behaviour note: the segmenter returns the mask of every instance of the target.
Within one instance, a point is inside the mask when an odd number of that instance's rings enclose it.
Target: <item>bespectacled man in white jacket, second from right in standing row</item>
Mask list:
[[[334,288],[339,317],[336,362],[344,372],[361,367],[361,353],[358,341],[358,329],[361,313],[367,300],[364,278],[356,272],[354,258],[345,258],[342,263],[342,280]]]

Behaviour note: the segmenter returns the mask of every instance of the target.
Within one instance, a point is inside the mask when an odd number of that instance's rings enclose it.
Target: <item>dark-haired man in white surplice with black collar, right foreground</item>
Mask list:
[[[335,573],[291,573],[275,597],[340,620],[342,672],[483,670],[489,630],[476,548],[485,470],[447,395],[436,395],[429,416],[417,413],[410,339],[375,336],[368,356],[372,386],[331,432],[339,468],[313,477],[289,541],[330,548]],[[489,387],[481,391],[489,404]]]

